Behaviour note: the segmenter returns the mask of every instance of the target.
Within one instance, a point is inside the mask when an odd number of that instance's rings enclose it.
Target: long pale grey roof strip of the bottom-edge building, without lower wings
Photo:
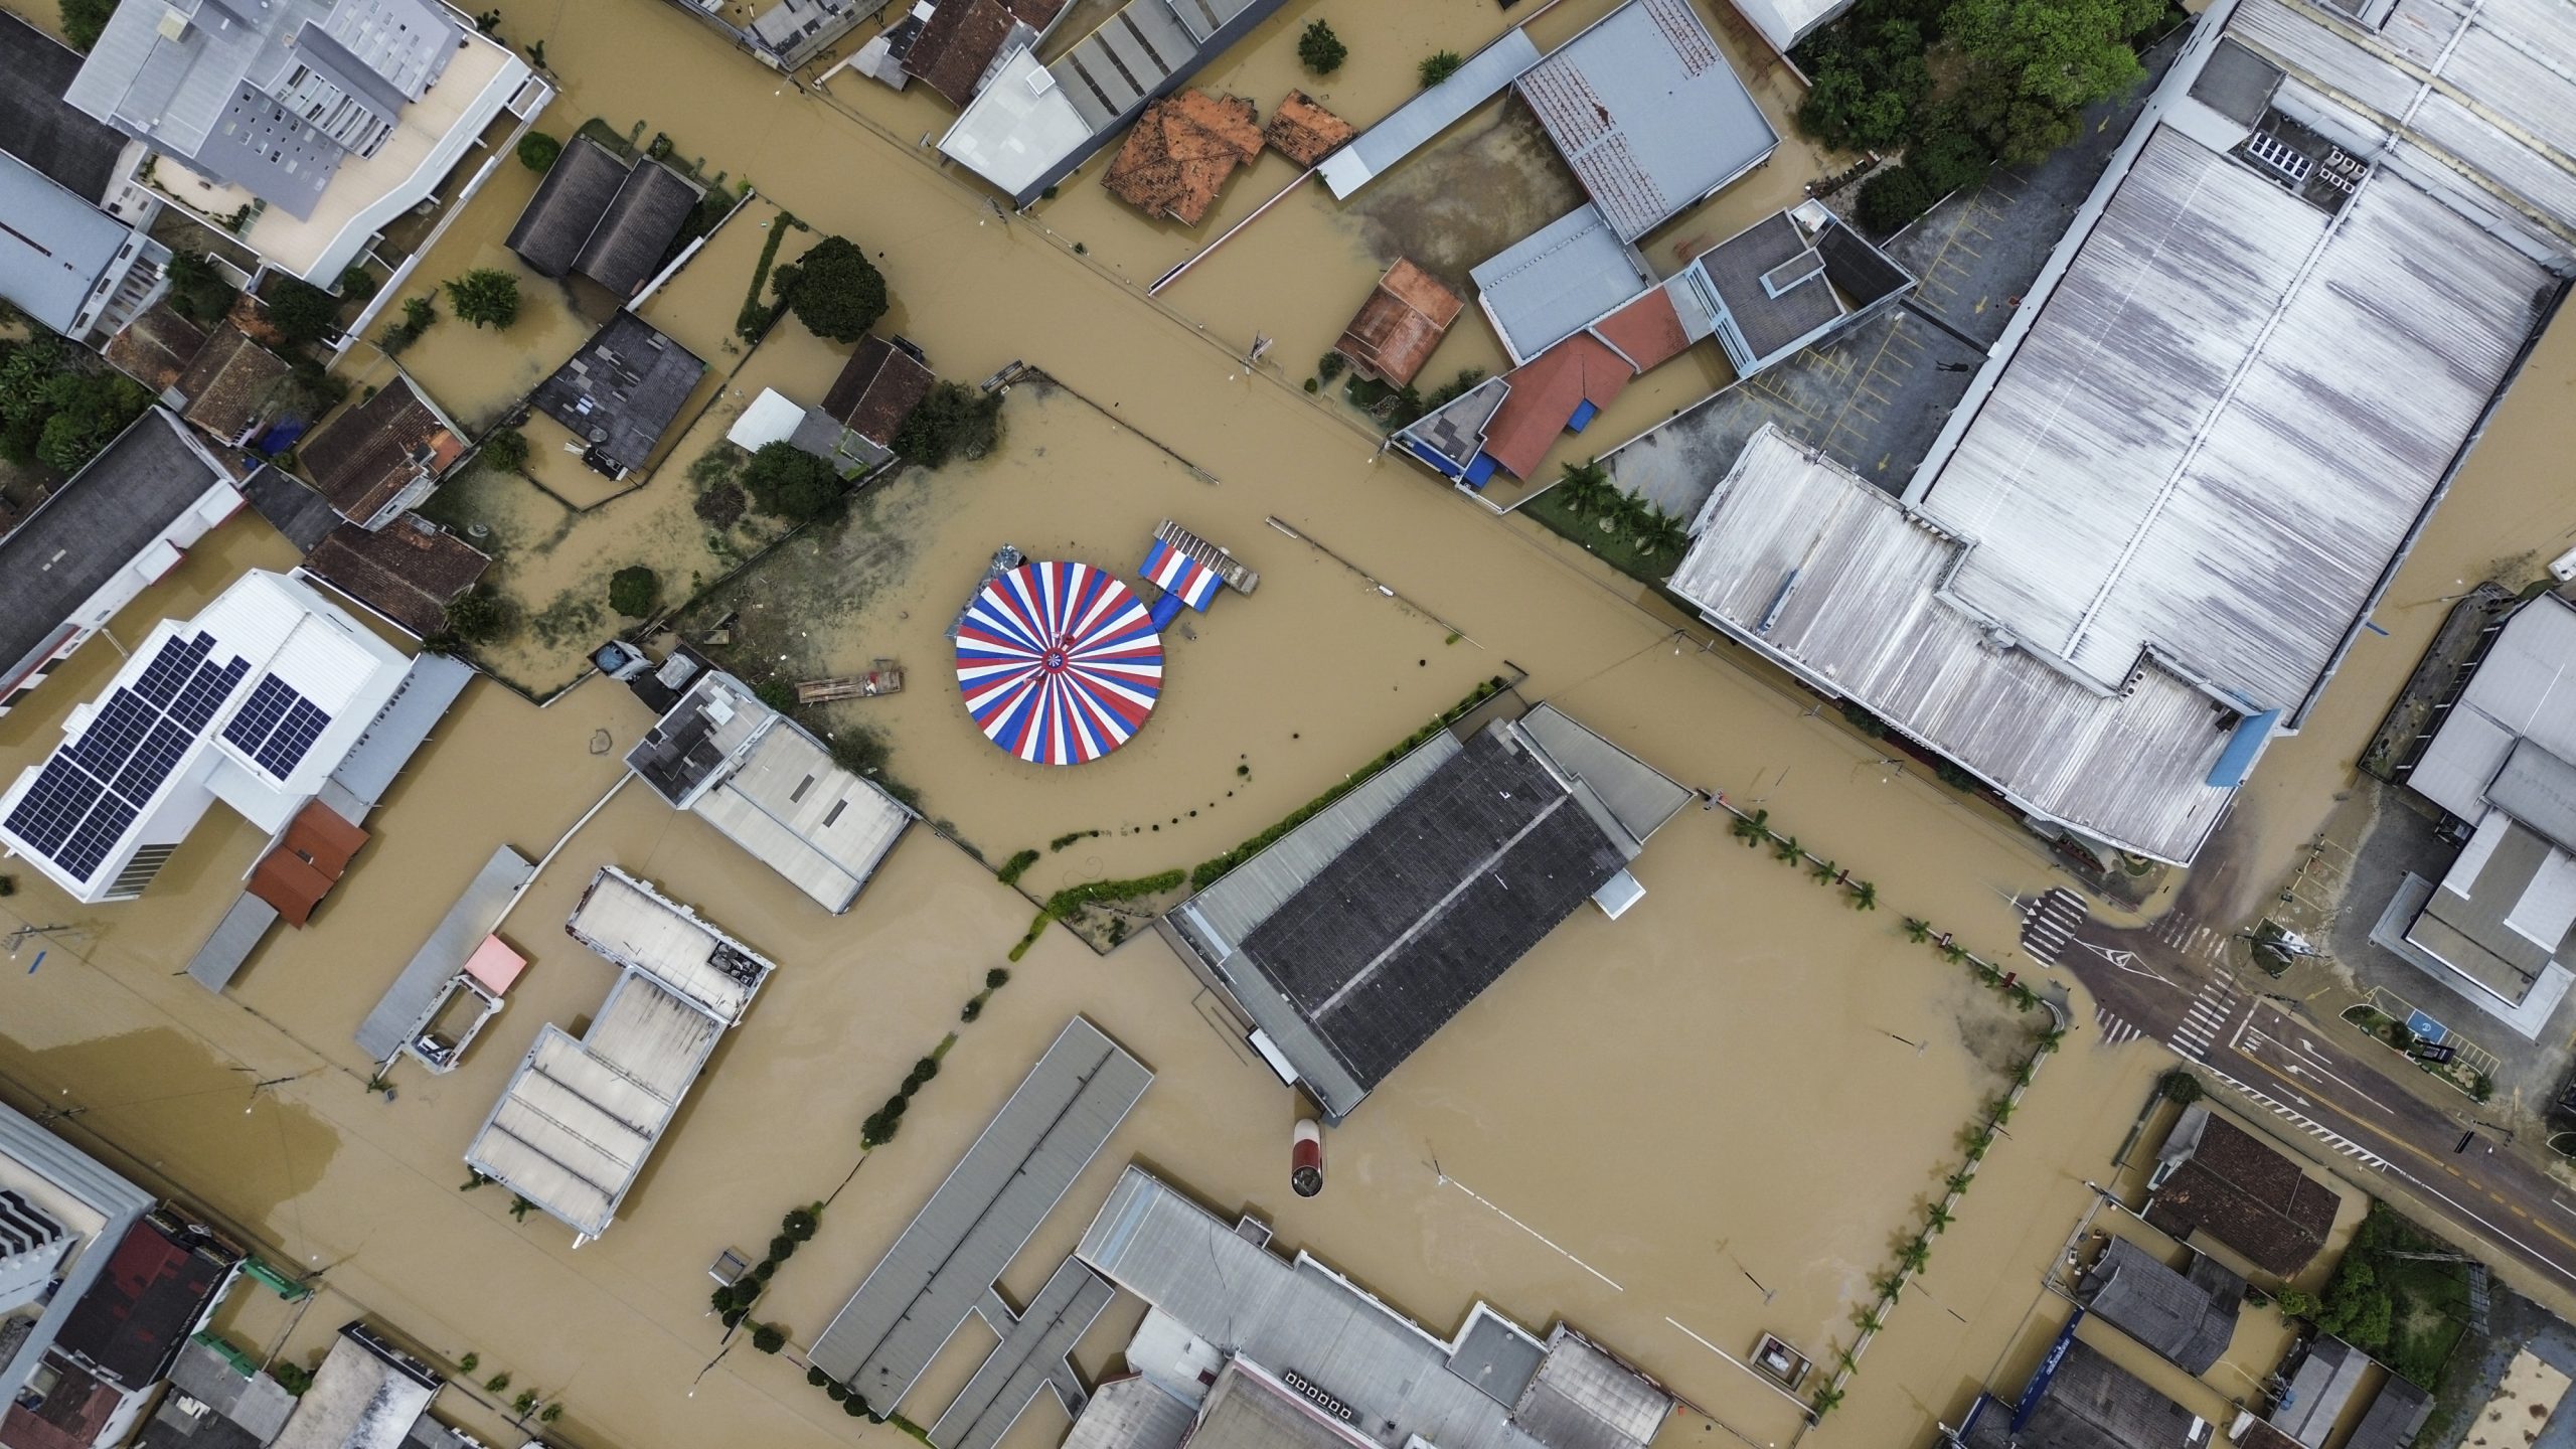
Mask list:
[[[1440,1449],[1641,1449],[1672,1408],[1651,1379],[1564,1328],[1530,1387],[1504,1403],[1453,1372],[1492,1312],[1484,1305],[1443,1341],[1316,1258],[1270,1253],[1144,1168],[1118,1178],[1074,1256],[1141,1297],[1149,1328],[1170,1318],[1216,1356],[1296,1372],[1352,1410],[1350,1434],[1383,1449],[1414,1436]],[[1136,1366],[1170,1392],[1206,1395],[1198,1361]]]

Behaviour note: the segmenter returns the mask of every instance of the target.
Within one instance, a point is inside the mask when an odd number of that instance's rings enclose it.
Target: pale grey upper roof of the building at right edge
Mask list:
[[[2576,761],[2576,603],[2555,593],[2504,621],[2406,784],[2476,822],[2488,810],[2486,786],[2522,740]]]

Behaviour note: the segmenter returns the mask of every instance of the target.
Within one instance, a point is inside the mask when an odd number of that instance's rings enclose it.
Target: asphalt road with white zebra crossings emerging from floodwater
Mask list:
[[[2401,1178],[2496,1248],[2576,1289],[2576,1189],[2499,1142],[2478,1109],[2434,1106],[2378,1062],[2344,1047],[2269,977],[2239,972],[2231,928],[2182,908],[2120,931],[2084,915],[2084,897],[2053,890],[2025,902],[2022,949],[2092,990],[2107,1044],[2164,1042],[2184,1065],[2226,1083],[2367,1173]],[[2349,1176],[2349,1173],[2347,1173]]]

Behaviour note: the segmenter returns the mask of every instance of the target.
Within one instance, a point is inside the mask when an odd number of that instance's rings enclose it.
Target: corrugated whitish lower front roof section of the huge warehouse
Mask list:
[[[1698,521],[1672,590],[1819,688],[1953,755],[2017,804],[2187,861],[2228,792],[2215,704],[2148,665],[2102,694],[1999,647],[1940,598],[1960,541],[1765,425]]]

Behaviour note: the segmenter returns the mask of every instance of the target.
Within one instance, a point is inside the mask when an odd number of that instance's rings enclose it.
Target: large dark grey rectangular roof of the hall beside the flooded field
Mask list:
[[[1625,864],[1530,750],[1489,730],[1255,926],[1242,954],[1368,1088]]]

